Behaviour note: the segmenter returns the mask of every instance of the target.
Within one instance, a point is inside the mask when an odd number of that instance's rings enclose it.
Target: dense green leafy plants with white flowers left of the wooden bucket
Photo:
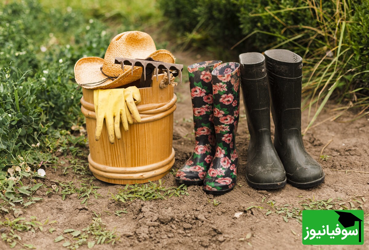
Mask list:
[[[37,201],[32,176],[58,166],[56,153],[82,154],[86,138],[70,133],[84,119],[72,66],[84,55],[102,56],[111,38],[100,21],[36,0],[1,2],[0,10],[0,208],[8,212]],[[75,173],[86,173],[82,164],[75,161]]]

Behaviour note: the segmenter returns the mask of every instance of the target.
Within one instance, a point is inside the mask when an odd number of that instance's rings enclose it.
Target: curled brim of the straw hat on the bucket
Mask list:
[[[148,57],[156,61],[175,63],[175,57],[168,50],[157,50],[148,55]],[[83,57],[79,59],[74,66],[77,84],[87,89],[109,89],[124,86],[141,78],[142,67],[135,66],[132,74],[132,66],[125,66],[123,74],[119,75],[117,79],[107,79],[107,76],[100,70],[103,63],[104,59],[100,57]]]

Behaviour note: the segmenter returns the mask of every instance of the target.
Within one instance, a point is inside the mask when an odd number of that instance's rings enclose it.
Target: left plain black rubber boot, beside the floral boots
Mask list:
[[[239,55],[250,144],[247,151],[246,179],[258,189],[286,185],[286,172],[270,137],[270,101],[265,57],[260,53]]]

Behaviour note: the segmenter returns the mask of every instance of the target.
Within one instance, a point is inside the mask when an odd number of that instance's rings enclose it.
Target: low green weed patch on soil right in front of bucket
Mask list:
[[[179,187],[164,187],[162,184],[162,181],[159,180],[159,184],[150,182],[149,184],[142,185],[125,185],[125,188],[120,190],[117,194],[114,195],[111,193],[111,198],[121,202],[134,202],[137,199],[166,200],[167,197],[189,195],[189,193],[187,193],[187,186],[184,184]]]

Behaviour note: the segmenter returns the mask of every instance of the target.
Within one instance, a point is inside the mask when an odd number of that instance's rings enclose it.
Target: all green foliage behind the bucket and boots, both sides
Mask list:
[[[55,152],[82,155],[73,66],[103,57],[115,34],[142,30],[173,54],[223,61],[272,48],[300,54],[306,132],[328,99],[341,104],[331,119],[349,109],[354,119],[369,114],[368,28],[368,0],[1,1],[0,209],[23,202],[21,179],[58,165]]]

